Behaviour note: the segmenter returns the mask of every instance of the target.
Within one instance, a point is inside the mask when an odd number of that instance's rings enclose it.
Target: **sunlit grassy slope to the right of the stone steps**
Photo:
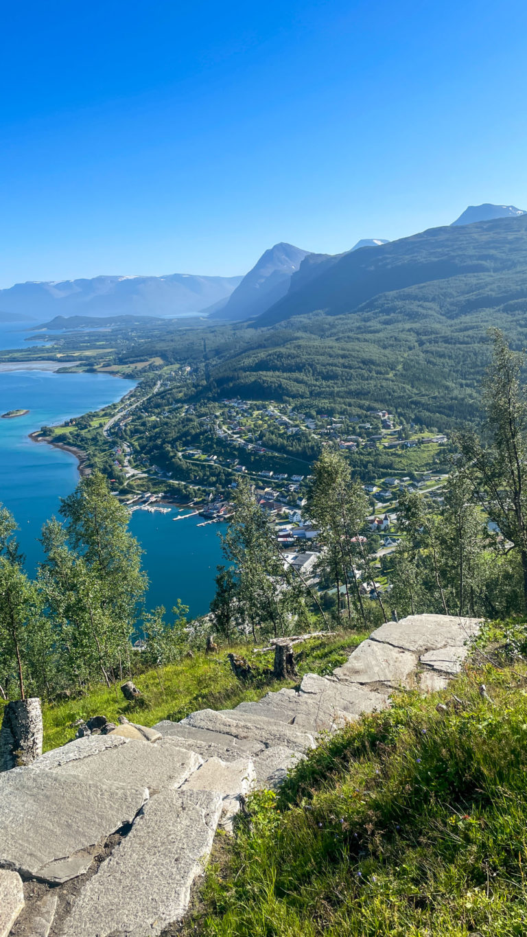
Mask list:
[[[525,935],[526,686],[525,665],[489,665],[324,737],[220,840],[183,932]]]

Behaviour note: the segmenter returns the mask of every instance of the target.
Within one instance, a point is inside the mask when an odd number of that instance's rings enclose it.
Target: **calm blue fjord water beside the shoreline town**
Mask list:
[[[14,330],[6,333],[7,326],[0,326],[0,347],[26,346],[23,333],[17,334],[18,341],[12,340]],[[44,424],[62,423],[104,407],[133,386],[133,381],[101,374],[0,372],[0,413],[19,408],[30,411],[13,420],[0,420],[0,501],[15,515],[30,570],[41,556],[37,537],[42,524],[58,513],[60,498],[73,490],[79,472],[73,455],[32,442],[28,434]],[[216,565],[222,561],[219,526],[198,528],[198,516],[174,522],[172,518],[180,513],[136,511],[130,529],[145,551],[143,565],[151,582],[149,605],[170,609],[181,599],[191,615],[202,615],[209,610]]]

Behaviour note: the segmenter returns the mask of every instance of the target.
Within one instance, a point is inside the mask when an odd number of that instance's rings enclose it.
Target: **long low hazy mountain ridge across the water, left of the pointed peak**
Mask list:
[[[0,290],[2,313],[60,316],[181,316],[226,300],[242,276],[95,276],[57,283],[16,283]]]

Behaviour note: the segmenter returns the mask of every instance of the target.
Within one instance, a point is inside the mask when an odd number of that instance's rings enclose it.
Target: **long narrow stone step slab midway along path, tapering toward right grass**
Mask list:
[[[193,725],[198,729],[212,729],[235,738],[254,739],[266,745],[293,746],[298,751],[306,751],[315,746],[315,739],[307,732],[295,729],[285,723],[274,723],[268,719],[236,713],[234,709],[201,709],[183,720],[183,725]]]

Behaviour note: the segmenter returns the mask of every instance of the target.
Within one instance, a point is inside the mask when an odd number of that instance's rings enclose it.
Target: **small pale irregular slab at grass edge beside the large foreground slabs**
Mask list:
[[[255,766],[247,758],[240,758],[235,762],[209,758],[188,781],[185,781],[183,790],[217,791],[221,794],[223,809],[219,825],[232,832],[232,822],[240,811],[241,796],[249,793],[255,781]]]

